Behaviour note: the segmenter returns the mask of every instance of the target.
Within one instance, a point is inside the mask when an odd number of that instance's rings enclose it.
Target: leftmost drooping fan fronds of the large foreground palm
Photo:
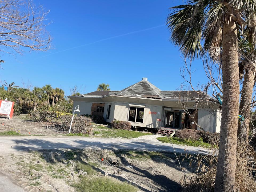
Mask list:
[[[167,17],[167,27],[171,32],[170,40],[180,47],[185,57],[202,54],[202,28],[205,21],[207,1],[190,1],[187,5],[171,7],[173,13]]]

